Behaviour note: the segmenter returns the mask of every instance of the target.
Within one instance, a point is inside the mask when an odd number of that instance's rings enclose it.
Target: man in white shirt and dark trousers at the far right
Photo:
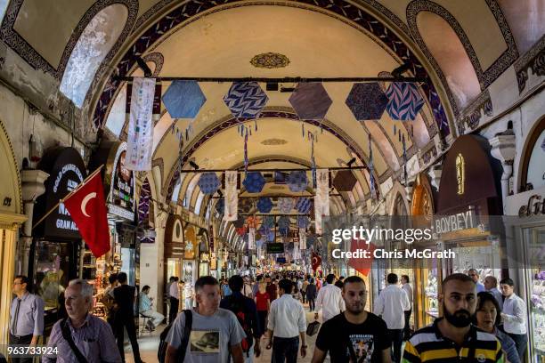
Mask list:
[[[525,361],[526,345],[526,304],[523,299],[513,292],[515,284],[511,278],[503,278],[500,281],[501,294],[505,296],[503,301],[503,330],[515,341],[520,361]]]

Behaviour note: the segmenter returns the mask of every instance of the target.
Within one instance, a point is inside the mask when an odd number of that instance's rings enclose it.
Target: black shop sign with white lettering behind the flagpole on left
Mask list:
[[[56,148],[48,152],[38,165],[38,168],[49,173],[45,181],[45,194],[37,198],[34,220],[38,221],[42,215],[55,206],[61,198],[85,179],[85,165],[73,148]],[[64,204],[59,204],[49,214],[43,226],[37,229],[37,237],[80,239],[76,223],[72,221],[69,211]],[[40,233],[41,232],[41,233]]]

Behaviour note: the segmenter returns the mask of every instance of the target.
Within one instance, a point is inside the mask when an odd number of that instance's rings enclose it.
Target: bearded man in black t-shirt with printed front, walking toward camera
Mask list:
[[[364,310],[366,299],[362,278],[346,278],[343,286],[346,311],[321,326],[312,363],[322,363],[328,352],[331,363],[392,362],[386,323]]]

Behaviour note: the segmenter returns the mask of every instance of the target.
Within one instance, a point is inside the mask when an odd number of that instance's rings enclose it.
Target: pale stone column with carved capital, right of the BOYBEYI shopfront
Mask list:
[[[503,167],[503,173],[501,174],[501,199],[503,204],[503,214],[505,214],[506,198],[509,195],[509,179],[513,174],[513,160],[517,154],[515,133],[513,130],[506,130],[502,133],[496,133],[496,135],[488,142],[490,142],[490,145],[492,146],[492,157],[500,160],[501,166]]]

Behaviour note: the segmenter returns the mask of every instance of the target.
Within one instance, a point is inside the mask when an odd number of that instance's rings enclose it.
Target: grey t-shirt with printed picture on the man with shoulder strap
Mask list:
[[[246,337],[239,320],[228,310],[218,308],[214,315],[205,317],[193,310],[191,335],[185,351],[185,363],[227,363],[229,347]],[[167,335],[167,342],[180,348],[186,334],[185,314],[179,314]]]

